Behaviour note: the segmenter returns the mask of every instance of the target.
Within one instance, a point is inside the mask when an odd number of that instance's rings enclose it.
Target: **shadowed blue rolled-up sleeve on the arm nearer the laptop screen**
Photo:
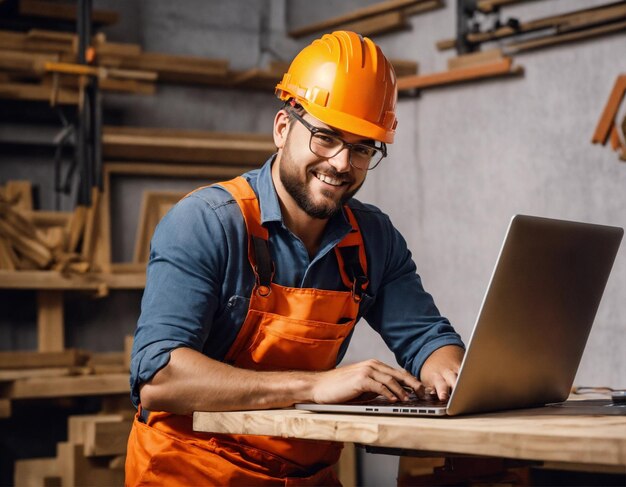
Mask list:
[[[464,347],[463,341],[424,290],[400,232],[386,216],[378,230],[378,258],[385,265],[376,266],[383,275],[380,287],[373,290],[374,304],[364,318],[381,335],[398,363],[419,377],[432,352],[445,345]]]

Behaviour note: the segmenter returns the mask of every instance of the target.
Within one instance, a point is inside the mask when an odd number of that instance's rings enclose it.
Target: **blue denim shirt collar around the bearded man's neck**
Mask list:
[[[263,164],[257,178],[257,195],[261,208],[261,225],[265,225],[268,222],[283,223],[283,215],[280,210],[278,195],[276,194],[276,188],[272,180],[272,164],[275,158],[276,154],[273,154],[265,164]],[[342,208],[341,212],[330,218],[324,233],[327,236],[343,236],[351,229],[352,225],[348,221],[345,210]]]

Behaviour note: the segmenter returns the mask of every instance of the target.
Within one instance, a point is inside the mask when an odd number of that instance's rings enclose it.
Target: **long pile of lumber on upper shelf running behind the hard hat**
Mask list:
[[[404,0],[403,0],[404,1]],[[413,2],[415,3],[415,2]],[[69,32],[0,30],[0,97],[76,104],[80,76],[94,76],[105,91],[154,94],[156,82],[201,84],[273,91],[288,63],[230,70],[228,60],[145,52],[138,44],[92,40],[89,66],[76,64],[78,37]],[[392,60],[398,76],[415,74],[417,64]]]

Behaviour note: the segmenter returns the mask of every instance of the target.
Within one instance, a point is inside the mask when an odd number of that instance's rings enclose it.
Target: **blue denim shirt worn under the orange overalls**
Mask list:
[[[283,223],[272,161],[244,177],[259,198],[261,222],[269,232],[274,281],[346,290],[333,248],[351,228],[347,218],[339,212],[328,221],[317,255],[309,258],[302,241]],[[368,263],[369,286],[359,317],[382,336],[398,363],[419,377],[434,350],[463,346],[461,338],[422,287],[406,242],[387,215],[355,199],[348,204],[361,228]],[[247,245],[239,206],[218,186],[194,192],[159,223],[133,345],[130,381],[135,406],[139,386],[167,364],[172,350],[189,347],[223,360],[243,324],[254,285]]]

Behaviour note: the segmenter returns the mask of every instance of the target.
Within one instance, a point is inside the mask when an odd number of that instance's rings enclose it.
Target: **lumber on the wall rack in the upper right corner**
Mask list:
[[[482,8],[484,12],[490,12],[495,7],[518,2],[519,0],[484,1]],[[478,3],[479,9],[480,4],[481,2]],[[500,43],[503,51],[510,55],[623,30],[626,30],[626,1],[619,1],[527,22],[517,21],[489,31],[471,32],[467,34],[466,40],[471,44],[482,45],[512,38],[511,41]],[[516,37],[523,39],[515,39]],[[440,50],[452,49],[455,45],[456,39],[437,42]]]

